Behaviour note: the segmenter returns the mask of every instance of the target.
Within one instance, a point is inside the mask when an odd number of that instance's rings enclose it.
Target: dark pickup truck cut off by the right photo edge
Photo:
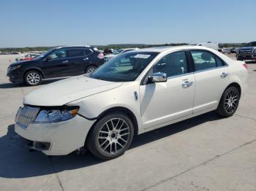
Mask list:
[[[238,48],[236,58],[238,61],[256,60],[256,42],[249,42],[244,47]]]

